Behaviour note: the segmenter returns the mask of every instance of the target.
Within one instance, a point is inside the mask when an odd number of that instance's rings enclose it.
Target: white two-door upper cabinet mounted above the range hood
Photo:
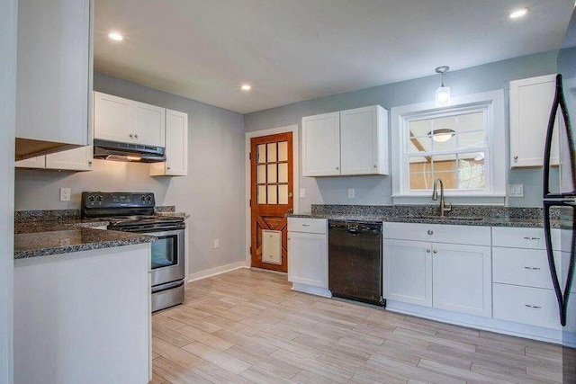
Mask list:
[[[94,92],[94,138],[165,147],[166,109]]]

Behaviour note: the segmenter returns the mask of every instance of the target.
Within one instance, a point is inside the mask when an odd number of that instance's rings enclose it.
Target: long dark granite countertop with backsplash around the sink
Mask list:
[[[309,215],[289,216],[483,227],[543,226],[542,209],[497,206],[454,206],[451,212],[446,213],[445,218],[440,218],[437,205],[312,205]],[[461,219],[454,219],[455,217]],[[553,227],[560,228],[558,211],[552,212],[552,217]]]

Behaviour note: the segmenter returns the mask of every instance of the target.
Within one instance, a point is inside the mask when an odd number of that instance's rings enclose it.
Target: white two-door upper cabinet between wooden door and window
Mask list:
[[[388,112],[379,105],[302,118],[302,174],[388,174]]]

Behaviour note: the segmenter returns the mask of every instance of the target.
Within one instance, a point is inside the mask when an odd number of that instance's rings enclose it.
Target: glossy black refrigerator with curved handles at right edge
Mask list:
[[[576,12],[556,62],[556,94],[545,142],[543,206],[545,243],[558,301],[563,344],[563,382],[576,382]],[[550,166],[553,139],[559,140],[560,166]],[[552,245],[552,228],[561,230],[561,246]],[[572,293],[571,293],[572,291]]]

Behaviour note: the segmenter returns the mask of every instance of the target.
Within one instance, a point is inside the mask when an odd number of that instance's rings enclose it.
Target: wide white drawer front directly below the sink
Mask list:
[[[445,224],[384,223],[384,238],[435,243],[491,245],[490,227]]]

